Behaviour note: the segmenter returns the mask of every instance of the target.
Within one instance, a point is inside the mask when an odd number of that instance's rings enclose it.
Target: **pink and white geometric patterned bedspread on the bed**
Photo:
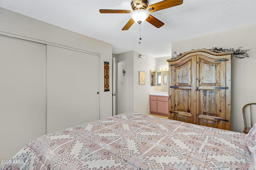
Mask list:
[[[41,136],[4,170],[248,169],[245,134],[124,113]]]

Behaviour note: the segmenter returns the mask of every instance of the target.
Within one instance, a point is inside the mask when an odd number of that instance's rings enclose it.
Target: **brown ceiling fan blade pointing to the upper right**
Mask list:
[[[166,8],[180,5],[182,3],[183,3],[183,0],[164,0],[164,1],[161,1],[156,4],[148,6],[148,12],[155,12],[158,10],[163,10]]]

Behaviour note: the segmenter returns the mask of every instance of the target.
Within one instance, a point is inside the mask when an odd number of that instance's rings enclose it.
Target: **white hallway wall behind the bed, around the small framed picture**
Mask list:
[[[155,70],[156,59],[148,55],[138,59],[138,52],[130,51],[117,55],[117,113],[136,111],[149,113],[150,70]],[[123,76],[123,69],[126,75]],[[139,85],[139,71],[146,73],[146,84]]]

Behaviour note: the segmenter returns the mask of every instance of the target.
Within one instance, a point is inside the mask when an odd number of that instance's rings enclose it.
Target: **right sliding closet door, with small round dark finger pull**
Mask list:
[[[47,133],[100,119],[100,57],[47,45]]]

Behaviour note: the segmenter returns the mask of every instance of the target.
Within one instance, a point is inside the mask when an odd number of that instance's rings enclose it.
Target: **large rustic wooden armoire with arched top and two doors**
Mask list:
[[[169,119],[230,130],[232,54],[198,49],[167,60]]]

